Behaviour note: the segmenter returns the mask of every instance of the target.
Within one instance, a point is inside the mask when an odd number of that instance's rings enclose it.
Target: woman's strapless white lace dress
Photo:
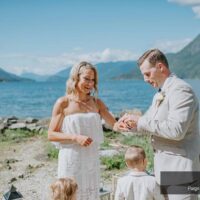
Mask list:
[[[78,144],[59,145],[58,178],[74,177],[78,183],[77,200],[98,200],[100,187],[99,146],[103,142],[98,113],[65,116],[63,133],[87,135],[93,139],[88,147]]]

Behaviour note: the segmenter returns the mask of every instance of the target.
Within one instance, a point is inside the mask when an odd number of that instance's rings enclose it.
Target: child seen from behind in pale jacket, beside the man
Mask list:
[[[142,147],[136,145],[129,147],[125,153],[125,162],[131,172],[119,178],[115,200],[164,199],[155,178],[145,172],[147,159]]]

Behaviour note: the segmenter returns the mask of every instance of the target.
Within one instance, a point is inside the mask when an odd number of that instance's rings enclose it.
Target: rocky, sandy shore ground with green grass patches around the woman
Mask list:
[[[48,186],[57,175],[56,151],[47,140],[48,124],[48,118],[0,118],[0,197],[12,185],[26,200],[48,196]],[[112,132],[103,121],[102,125],[105,139],[100,150],[101,179],[104,189],[112,193],[113,177],[126,170],[124,149],[133,142],[146,143],[140,138],[131,141],[128,134]]]

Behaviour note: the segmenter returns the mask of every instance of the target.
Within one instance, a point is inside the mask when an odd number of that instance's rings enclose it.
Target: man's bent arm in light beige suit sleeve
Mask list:
[[[169,111],[163,121],[143,116],[138,120],[138,130],[159,137],[182,140],[190,126],[196,100],[189,87],[177,87],[169,97]]]

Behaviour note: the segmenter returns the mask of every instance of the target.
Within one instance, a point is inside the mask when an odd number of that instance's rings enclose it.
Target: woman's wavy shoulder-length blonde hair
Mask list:
[[[98,94],[98,75],[96,68],[90,64],[89,62],[82,61],[78,65],[74,65],[70,71],[69,79],[67,80],[66,87],[67,87],[67,94],[75,95],[77,94],[77,84],[79,81],[79,75],[85,69],[91,69],[94,72],[94,95],[97,96]]]

